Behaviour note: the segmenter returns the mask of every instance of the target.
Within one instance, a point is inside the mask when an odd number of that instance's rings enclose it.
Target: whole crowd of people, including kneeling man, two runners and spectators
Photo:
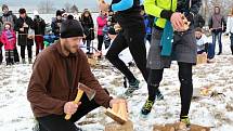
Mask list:
[[[141,114],[145,116],[151,113],[156,100],[164,99],[159,91],[164,70],[170,67],[171,61],[177,61],[181,96],[180,121],[190,127],[189,110],[196,56],[206,53],[208,62],[212,62],[217,39],[219,43],[217,54],[221,55],[223,32],[231,35],[233,54],[233,8],[225,21],[220,6],[216,5],[213,14],[206,24],[203,16],[198,14],[202,1],[190,1],[144,0],[142,5],[140,0],[113,0],[111,3],[100,0],[101,11],[96,19],[93,19],[87,9],[80,17],[59,10],[56,16],[52,18],[52,29],[49,32],[46,29],[46,22],[37,11],[34,12],[33,19],[25,9],[20,9],[17,18],[9,11],[8,5],[2,5],[1,43],[5,50],[7,65],[20,62],[16,43],[21,47],[22,63],[26,63],[26,48],[28,63],[33,63],[31,49],[36,43],[38,56],[34,64],[27,96],[39,122],[39,130],[77,131],[80,129],[77,129],[74,122],[92,109],[99,106],[112,107],[113,104],[125,102],[111,97],[90,70],[87,55],[93,53],[95,36],[98,52],[102,51],[104,43],[105,49],[108,49],[106,58],[127,78],[129,82],[125,92],[127,96],[131,96],[140,88],[140,80],[119,57],[119,53],[129,48],[135,65],[147,83],[148,97],[141,109]],[[209,27],[212,42],[209,42],[204,34],[205,25]],[[87,49],[87,55],[78,49],[81,41],[85,44],[81,48]],[[146,41],[151,44],[147,56]],[[49,45],[48,50],[41,52]],[[46,74],[42,74],[44,70],[47,70]],[[67,78],[63,79],[64,76]],[[73,102],[77,93],[74,87],[80,86],[79,82],[98,91],[94,101],[89,102],[87,96],[83,96],[81,103]],[[75,117],[66,121],[65,114]]]

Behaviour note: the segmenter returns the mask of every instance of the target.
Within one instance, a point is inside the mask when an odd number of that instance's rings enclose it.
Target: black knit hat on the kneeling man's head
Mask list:
[[[67,19],[62,22],[60,32],[61,38],[83,37],[81,24],[73,16],[68,16]]]

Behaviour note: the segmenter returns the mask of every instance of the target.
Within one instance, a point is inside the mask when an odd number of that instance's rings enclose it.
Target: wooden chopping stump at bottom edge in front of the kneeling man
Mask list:
[[[114,122],[107,123],[105,126],[104,131],[133,131],[133,123],[130,120],[128,120],[124,125],[119,125],[118,122],[114,121]]]

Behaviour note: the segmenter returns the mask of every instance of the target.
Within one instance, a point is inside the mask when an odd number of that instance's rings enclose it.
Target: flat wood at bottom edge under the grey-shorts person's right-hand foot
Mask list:
[[[167,123],[165,126],[155,125],[153,131],[183,131],[186,129],[186,126],[182,122],[178,123]],[[210,131],[210,128],[191,125],[190,131]]]

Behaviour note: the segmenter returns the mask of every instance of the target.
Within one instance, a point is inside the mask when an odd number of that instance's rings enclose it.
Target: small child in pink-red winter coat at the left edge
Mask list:
[[[5,50],[5,61],[7,65],[14,64],[14,49],[16,45],[16,35],[14,30],[11,29],[11,23],[4,24],[4,29],[1,34],[1,42]]]

